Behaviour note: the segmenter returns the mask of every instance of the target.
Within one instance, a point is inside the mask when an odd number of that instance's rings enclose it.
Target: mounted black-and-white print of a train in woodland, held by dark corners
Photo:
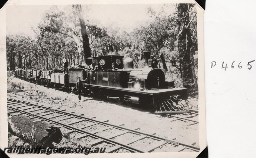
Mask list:
[[[205,148],[197,3],[5,7],[5,153]]]

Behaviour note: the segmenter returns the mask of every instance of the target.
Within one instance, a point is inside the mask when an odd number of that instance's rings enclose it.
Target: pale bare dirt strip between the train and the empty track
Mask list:
[[[157,136],[169,140],[179,141],[188,145],[194,143],[195,147],[199,147],[197,124],[188,126],[191,122],[180,123],[182,122],[180,120],[115,103],[94,100],[92,97],[82,96],[82,100],[79,102],[76,94],[28,83],[13,77],[13,75],[9,77],[7,83],[8,89],[23,88],[25,92],[20,92],[20,94],[28,95],[34,103],[37,102],[39,105],[49,104],[52,108],[60,107],[61,109],[66,109],[67,112],[84,114],[88,118],[96,117],[100,121],[109,120],[109,124],[117,126],[124,124],[123,127],[129,129],[140,128],[140,132],[156,133]],[[19,88],[15,87],[15,85],[13,86],[13,84],[18,85]],[[198,98],[189,98],[188,104],[190,108],[198,109]],[[67,144],[64,143],[65,141],[67,141]],[[66,138],[61,143],[74,145],[73,142],[68,142]]]

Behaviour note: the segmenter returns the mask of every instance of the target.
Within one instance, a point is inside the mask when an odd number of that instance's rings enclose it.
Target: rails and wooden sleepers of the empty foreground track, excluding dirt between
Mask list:
[[[92,146],[95,145],[95,144],[102,143],[102,142],[107,142],[107,143],[113,144],[114,147],[110,148],[108,150],[108,153],[112,153],[112,152],[117,151],[121,148],[126,149],[130,152],[153,152],[156,148],[161,147],[165,144],[171,144],[171,145],[175,146],[174,151],[176,151],[176,152],[182,151],[186,148],[190,149],[192,151],[199,151],[200,150],[198,147],[195,147],[195,146],[192,146],[192,145],[187,145],[187,144],[180,143],[180,142],[177,142],[177,141],[157,137],[157,136],[152,135],[152,134],[142,133],[140,131],[127,129],[127,128],[124,128],[122,126],[111,125],[111,124],[107,123],[107,121],[102,122],[102,121],[98,121],[98,120],[95,120],[95,119],[92,119],[92,118],[86,118],[84,116],[76,115],[74,113],[68,113],[68,112],[62,111],[60,109],[52,109],[50,107],[31,104],[31,103],[28,103],[28,102],[25,102],[25,101],[20,101],[20,100],[15,100],[15,99],[10,99],[10,98],[8,98],[7,103],[8,103],[8,105],[7,105],[8,109],[13,110],[9,113],[19,111],[19,112],[26,113],[28,115],[34,116],[35,118],[50,121],[50,122],[52,122],[56,125],[63,126],[63,127],[68,128],[68,129],[71,129],[70,132],[76,131],[76,132],[79,132],[79,133],[83,133],[83,135],[80,136],[80,137],[77,137],[77,139],[81,139],[85,136],[91,136],[93,138],[98,139],[98,141],[96,143],[92,144]],[[30,107],[26,108],[26,106],[30,106]],[[24,109],[24,107],[25,107],[25,109]],[[37,107],[37,109],[33,110],[33,108],[36,108],[36,107]],[[22,110],[20,108],[22,108]],[[44,111],[40,112],[42,110],[44,110]],[[35,113],[35,111],[38,111],[38,112]],[[54,115],[54,114],[56,114],[56,115]],[[51,116],[51,117],[47,117],[47,115]],[[59,120],[54,119],[54,118],[64,116],[64,115],[66,115],[65,118],[62,118],[62,119],[59,119]],[[72,122],[70,122],[68,124],[61,122],[63,120],[72,119],[72,118],[76,118],[76,119],[79,119],[79,120],[73,120]],[[85,126],[81,126],[79,128],[75,127],[75,126],[72,126],[76,123],[81,123],[83,121],[89,121],[90,124],[85,125]],[[88,132],[88,130],[86,130],[86,128],[88,128],[90,126],[94,126],[94,125],[103,125],[104,127],[98,129],[97,131],[93,131],[93,132]],[[119,132],[116,132],[113,135],[106,136],[106,137],[97,134],[101,131],[113,130],[113,129],[118,129]],[[130,140],[126,143],[120,142],[120,141],[115,141],[113,139],[113,138],[121,136],[125,133],[132,133],[132,134],[136,134],[138,136],[135,139]],[[134,147],[132,145],[133,143],[139,142],[143,139],[150,139],[152,141],[155,140],[157,143],[145,144],[146,147],[143,146],[143,148]]]

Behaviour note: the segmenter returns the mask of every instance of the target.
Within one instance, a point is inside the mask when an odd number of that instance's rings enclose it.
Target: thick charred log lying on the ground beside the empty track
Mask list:
[[[8,132],[29,142],[32,147],[54,147],[52,143],[58,144],[62,139],[62,133],[58,127],[22,115],[8,117]]]

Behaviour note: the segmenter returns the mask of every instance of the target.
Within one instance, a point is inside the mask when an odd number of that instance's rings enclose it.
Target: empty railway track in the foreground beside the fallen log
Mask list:
[[[161,152],[169,149],[172,152],[199,151],[198,147],[187,145],[173,140],[157,137],[153,134],[142,133],[138,129],[127,129],[120,125],[111,125],[106,121],[98,121],[94,118],[86,118],[74,113],[68,113],[65,109],[52,109],[28,103],[26,100],[7,99],[8,113],[25,114],[30,118],[50,122],[65,132],[75,134],[74,139],[91,140],[91,147],[107,147],[108,153],[121,152]],[[143,144],[143,145],[142,145]]]

